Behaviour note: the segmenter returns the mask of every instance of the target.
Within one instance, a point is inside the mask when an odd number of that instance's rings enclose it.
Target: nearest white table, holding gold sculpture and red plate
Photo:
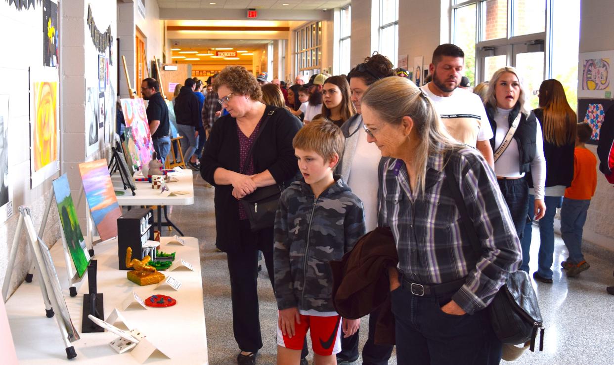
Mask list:
[[[117,307],[130,325],[144,332],[151,342],[170,356],[170,359],[155,358],[146,363],[208,364],[198,239],[184,237],[185,246],[168,245],[170,239],[171,237],[161,237],[160,249],[164,252],[176,252],[176,261],[184,259],[192,264],[194,269],[163,271],[165,275],[182,283],[179,291],[155,291],[156,285],[139,286],[126,279],[127,271],[118,269],[117,240],[109,240],[95,246],[94,259],[98,260],[98,293],[103,293],[104,319]],[[66,359],[64,342],[55,318],[45,317],[41,288],[36,283],[39,275],[34,275],[34,281],[21,284],[6,303],[20,364],[138,364],[130,351],[118,354],[112,350],[109,342],[118,337],[115,334],[81,332],[82,294],[88,293],[87,274],[84,274],[82,282],[76,284],[79,295],[70,297],[62,245],[54,245],[51,253],[72,323],[81,337],[80,340],[72,342],[77,357]],[[152,294],[165,294],[177,299],[177,304],[168,308],[147,307],[148,309],[122,311],[121,303],[132,291],[144,300]]]

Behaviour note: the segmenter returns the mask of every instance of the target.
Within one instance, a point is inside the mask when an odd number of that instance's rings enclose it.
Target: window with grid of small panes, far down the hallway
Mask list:
[[[322,21],[294,31],[295,75],[319,74],[322,61]]]

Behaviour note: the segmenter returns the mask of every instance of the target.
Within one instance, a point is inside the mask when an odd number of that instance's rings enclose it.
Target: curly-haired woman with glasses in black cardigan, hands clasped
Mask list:
[[[200,172],[216,186],[216,247],[227,253],[233,331],[241,350],[237,360],[255,364],[255,355],[262,348],[258,250],[273,285],[273,226],[252,232],[239,199],[258,188],[287,186],[292,181],[298,171],[292,139],[301,123],[285,108],[262,104],[260,86],[244,67],[225,67],[213,88],[229,115],[219,118],[211,129]]]

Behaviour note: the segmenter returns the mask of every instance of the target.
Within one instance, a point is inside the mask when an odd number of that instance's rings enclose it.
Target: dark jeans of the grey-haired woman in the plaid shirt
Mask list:
[[[499,364],[502,345],[486,310],[441,310],[454,293],[416,296],[405,282],[392,291],[398,364]]]

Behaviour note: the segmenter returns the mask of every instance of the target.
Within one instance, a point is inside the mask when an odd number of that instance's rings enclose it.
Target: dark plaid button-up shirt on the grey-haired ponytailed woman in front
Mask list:
[[[453,195],[446,187],[443,154],[427,160],[424,194],[413,196],[400,159],[379,166],[378,225],[389,226],[397,243],[398,269],[423,285],[466,278],[452,299],[467,313],[484,309],[521,261],[521,248],[497,178],[472,148],[449,153],[455,180],[480,239],[476,261]]]

